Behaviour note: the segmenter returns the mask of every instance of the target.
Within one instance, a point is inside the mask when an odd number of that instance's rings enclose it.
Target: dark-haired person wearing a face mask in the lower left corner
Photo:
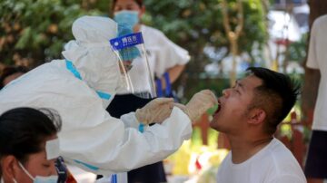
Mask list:
[[[0,116],[1,183],[58,181],[57,133],[62,123],[46,109],[16,108]]]

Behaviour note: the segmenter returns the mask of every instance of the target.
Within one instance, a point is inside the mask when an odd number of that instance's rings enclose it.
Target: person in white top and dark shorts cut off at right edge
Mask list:
[[[327,15],[317,18],[312,24],[309,53],[306,66],[319,70],[321,79],[314,107],[312,137],[305,162],[304,173],[308,183],[322,183],[327,178]]]

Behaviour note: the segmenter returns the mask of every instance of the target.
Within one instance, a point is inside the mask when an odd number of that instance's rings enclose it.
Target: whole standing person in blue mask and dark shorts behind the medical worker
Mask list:
[[[182,47],[169,40],[160,30],[141,24],[140,18],[145,12],[143,0],[114,0],[111,5],[114,20],[118,24],[131,26],[132,33],[141,32],[144,37],[144,46],[151,69],[151,75],[155,80],[157,97],[173,97],[172,84],[183,72],[185,64],[189,62],[190,55]],[[131,79],[135,81],[135,90],[147,92],[146,83],[138,80],[144,75],[144,67],[136,59],[134,67],[130,71]],[[110,103],[107,111],[114,117],[144,107],[146,103],[154,100],[150,98],[136,97],[133,93],[120,90]],[[176,99],[176,98],[175,98]],[[125,106],[124,103],[129,105]],[[151,165],[134,169],[128,172],[128,180],[132,182],[166,182],[163,162],[159,161]]]

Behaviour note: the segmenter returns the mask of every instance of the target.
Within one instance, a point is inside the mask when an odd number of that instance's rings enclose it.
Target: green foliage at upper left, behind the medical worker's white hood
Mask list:
[[[110,0],[0,0],[0,62],[60,58],[73,39],[71,26],[84,14],[107,14]],[[104,8],[105,7],[105,8]]]

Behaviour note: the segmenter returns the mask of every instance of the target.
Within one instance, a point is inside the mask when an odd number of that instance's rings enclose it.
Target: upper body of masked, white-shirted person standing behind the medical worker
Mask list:
[[[144,45],[150,69],[153,76],[160,81],[161,86],[157,86],[159,97],[161,90],[175,82],[184,70],[185,64],[190,61],[189,53],[179,45],[169,40],[160,30],[141,23],[141,18],[145,13],[143,0],[114,0],[113,1],[114,21],[118,24],[131,26],[134,33],[141,32],[144,37]],[[131,75],[139,75],[144,72],[139,65],[134,65],[130,71]],[[141,89],[145,86],[142,82],[137,87]],[[126,94],[126,92],[120,92]]]

